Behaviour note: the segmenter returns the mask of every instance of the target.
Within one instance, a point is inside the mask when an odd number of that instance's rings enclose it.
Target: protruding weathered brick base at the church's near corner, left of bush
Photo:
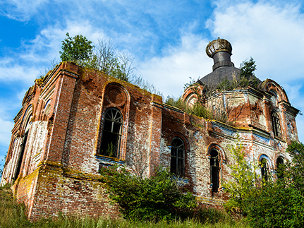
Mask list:
[[[47,163],[47,162],[46,162]],[[57,164],[41,164],[30,219],[58,216],[118,217],[117,205],[111,204],[99,175],[63,169]]]

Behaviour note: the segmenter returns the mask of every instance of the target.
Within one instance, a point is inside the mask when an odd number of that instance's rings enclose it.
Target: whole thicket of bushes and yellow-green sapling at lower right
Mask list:
[[[233,181],[224,184],[231,193],[226,208],[241,212],[253,227],[304,227],[304,145],[294,141],[286,152],[292,161],[266,180],[257,178],[257,167],[245,159],[241,143],[232,148],[236,164],[231,166]]]

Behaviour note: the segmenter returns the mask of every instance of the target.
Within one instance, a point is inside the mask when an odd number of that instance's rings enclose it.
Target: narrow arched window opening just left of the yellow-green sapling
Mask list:
[[[212,184],[212,192],[216,193],[219,190],[219,174],[221,171],[221,157],[216,149],[210,152],[210,177]]]

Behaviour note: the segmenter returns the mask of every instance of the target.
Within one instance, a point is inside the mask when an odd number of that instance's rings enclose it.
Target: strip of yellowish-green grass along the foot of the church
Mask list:
[[[43,218],[36,222],[30,222],[26,216],[26,208],[22,204],[13,200],[13,194],[8,186],[0,187],[0,227],[56,227],[56,228],[249,228],[242,220],[234,221],[226,212],[215,209],[199,210],[195,213],[197,219],[176,220],[172,222],[130,222],[127,220],[112,220],[110,218],[99,217],[71,217],[59,215],[56,218]]]

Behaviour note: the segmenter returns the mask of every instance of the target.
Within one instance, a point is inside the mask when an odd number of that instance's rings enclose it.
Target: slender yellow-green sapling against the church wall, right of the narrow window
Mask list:
[[[246,214],[248,200],[255,196],[257,186],[257,164],[246,160],[243,143],[238,137],[235,146],[230,146],[233,164],[229,165],[231,169],[232,181],[224,182],[223,186],[228,193],[230,199],[225,207],[231,212],[241,212]]]

